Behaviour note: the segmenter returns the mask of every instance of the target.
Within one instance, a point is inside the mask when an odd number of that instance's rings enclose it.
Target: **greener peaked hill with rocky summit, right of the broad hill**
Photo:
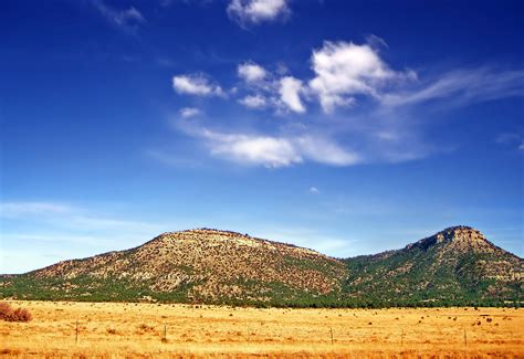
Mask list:
[[[346,261],[349,297],[385,305],[522,302],[524,261],[468,226]]]

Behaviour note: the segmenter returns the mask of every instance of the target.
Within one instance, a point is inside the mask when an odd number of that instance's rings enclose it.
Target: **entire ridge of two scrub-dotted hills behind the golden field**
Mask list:
[[[258,306],[521,305],[524,261],[455,226],[397,251],[336,260],[218,230],[0,276],[0,298]]]

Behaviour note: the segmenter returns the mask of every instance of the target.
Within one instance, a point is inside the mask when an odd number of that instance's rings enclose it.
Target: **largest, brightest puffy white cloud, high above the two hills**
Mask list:
[[[357,95],[378,97],[389,81],[405,76],[391,71],[371,46],[353,42],[324,42],[313,51],[312,64],[316,76],[310,87],[326,113],[354,103]]]

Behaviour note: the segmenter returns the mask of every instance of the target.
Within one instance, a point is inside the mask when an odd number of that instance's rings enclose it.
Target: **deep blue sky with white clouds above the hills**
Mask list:
[[[200,226],[524,255],[522,1],[0,7],[0,273]]]

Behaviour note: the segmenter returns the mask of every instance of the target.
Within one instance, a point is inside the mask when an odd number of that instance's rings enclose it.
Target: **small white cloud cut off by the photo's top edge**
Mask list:
[[[287,0],[231,0],[227,11],[241,25],[274,21],[290,13]]]

